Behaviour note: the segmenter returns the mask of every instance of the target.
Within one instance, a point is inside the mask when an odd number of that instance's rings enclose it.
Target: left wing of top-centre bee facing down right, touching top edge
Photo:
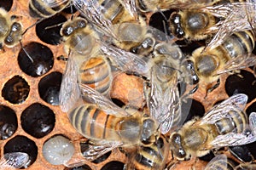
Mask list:
[[[104,32],[106,35],[113,35],[111,20],[106,19],[102,14],[102,7],[96,0],[73,0],[73,5],[79,10],[84,18]]]

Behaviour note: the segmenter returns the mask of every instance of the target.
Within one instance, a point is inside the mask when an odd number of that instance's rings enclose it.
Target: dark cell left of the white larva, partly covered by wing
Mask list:
[[[26,162],[25,168],[32,165],[38,157],[38,146],[31,139],[26,136],[15,136],[10,139],[3,147],[4,154],[11,152],[25,152],[29,156],[29,160]]]

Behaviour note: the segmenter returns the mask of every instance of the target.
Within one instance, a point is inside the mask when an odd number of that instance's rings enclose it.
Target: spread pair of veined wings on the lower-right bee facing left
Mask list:
[[[236,94],[231,96],[228,99],[225,99],[218,105],[212,107],[211,111],[208,111],[205,116],[203,116],[200,120],[200,124],[214,124],[221,119],[230,118],[229,112],[233,111],[234,108],[239,111],[243,111],[247,104],[247,95],[246,94]],[[236,131],[232,131],[230,133],[226,133],[223,135],[218,135],[211,142],[211,148],[220,148],[224,146],[234,146],[234,145],[243,145],[249,144],[256,141],[256,114],[252,113],[249,116],[249,125],[247,129],[242,133],[236,133]]]

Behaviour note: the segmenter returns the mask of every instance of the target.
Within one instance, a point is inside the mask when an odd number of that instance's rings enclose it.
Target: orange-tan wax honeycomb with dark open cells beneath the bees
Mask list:
[[[27,0],[14,0],[0,3],[2,8],[9,11],[10,15],[16,15],[24,28],[28,28],[37,22],[28,12]],[[58,106],[58,93],[61,86],[61,77],[66,62],[59,59],[67,56],[63,51],[63,44],[59,34],[61,26],[55,26],[65,22],[69,14],[63,12],[32,26],[22,37],[22,46],[30,54],[30,59],[22,50],[20,44],[14,48],[4,47],[0,54],[0,155],[11,151],[24,151],[30,156],[30,162],[26,169],[76,169],[64,165],[53,165],[46,161],[42,150],[46,141],[61,135],[70,140],[75,147],[75,153],[71,159],[76,163],[83,160],[80,152],[84,150],[84,139],[69,123],[67,114]],[[148,24],[156,25],[160,15],[148,14]],[[54,26],[45,29],[47,26]],[[199,88],[191,95],[192,106],[189,116],[203,115],[209,111],[212,105],[227,99],[234,93],[244,93],[249,96],[246,111],[249,114],[256,111],[256,78],[252,68],[241,71],[240,75],[223,75],[218,88],[206,96],[204,88]],[[111,97],[123,103],[133,96],[138,107],[143,105],[143,99],[133,95],[130,89],[137,89],[143,93],[143,79],[122,73],[114,78]],[[247,148],[253,153],[255,144],[247,144]],[[255,152],[255,151],[254,151]],[[227,152],[230,156],[230,153]],[[171,154],[170,154],[171,155]],[[122,169],[127,162],[127,157],[122,150],[112,150],[96,161],[83,161],[80,169],[106,170]],[[172,156],[168,162],[172,164]],[[202,169],[207,161],[192,159],[178,162],[173,169]]]

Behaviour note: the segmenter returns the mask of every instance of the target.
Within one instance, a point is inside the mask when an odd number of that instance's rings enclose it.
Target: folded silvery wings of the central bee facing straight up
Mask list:
[[[181,114],[180,109],[177,109],[180,108],[177,74],[174,74],[165,90],[161,88],[162,82],[158,82],[156,74],[153,66],[148,107],[150,115],[160,123],[161,133],[165,134],[174,126],[174,123],[179,122],[176,119],[180,118]]]

